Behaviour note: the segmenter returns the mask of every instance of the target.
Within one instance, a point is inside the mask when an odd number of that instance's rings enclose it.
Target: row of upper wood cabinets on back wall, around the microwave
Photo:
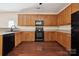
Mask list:
[[[36,14],[19,14],[18,15],[18,25],[19,26],[34,26],[35,20],[43,20],[44,26],[55,26],[56,25],[56,15],[36,15]]]

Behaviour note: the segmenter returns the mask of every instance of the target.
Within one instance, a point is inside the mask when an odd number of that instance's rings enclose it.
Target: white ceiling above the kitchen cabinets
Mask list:
[[[56,14],[68,5],[69,3],[42,3],[42,5],[39,5],[39,3],[0,3],[0,12]]]

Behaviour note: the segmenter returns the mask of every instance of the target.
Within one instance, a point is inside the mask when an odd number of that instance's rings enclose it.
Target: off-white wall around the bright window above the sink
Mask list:
[[[0,13],[0,28],[7,28],[9,20],[14,20],[15,25],[17,25],[17,14],[16,13]]]

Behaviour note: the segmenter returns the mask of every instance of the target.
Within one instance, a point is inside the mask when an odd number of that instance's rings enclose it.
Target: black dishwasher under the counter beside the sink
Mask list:
[[[14,33],[3,35],[3,56],[6,56],[15,46]]]

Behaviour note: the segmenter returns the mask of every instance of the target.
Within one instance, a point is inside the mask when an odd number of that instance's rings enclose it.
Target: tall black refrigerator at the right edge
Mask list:
[[[71,14],[71,56],[79,56],[79,11]]]

